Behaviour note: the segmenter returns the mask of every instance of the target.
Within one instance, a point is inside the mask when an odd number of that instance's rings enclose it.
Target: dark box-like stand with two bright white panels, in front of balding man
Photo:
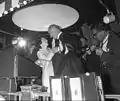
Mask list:
[[[99,77],[94,73],[50,78],[52,101],[104,101]]]

